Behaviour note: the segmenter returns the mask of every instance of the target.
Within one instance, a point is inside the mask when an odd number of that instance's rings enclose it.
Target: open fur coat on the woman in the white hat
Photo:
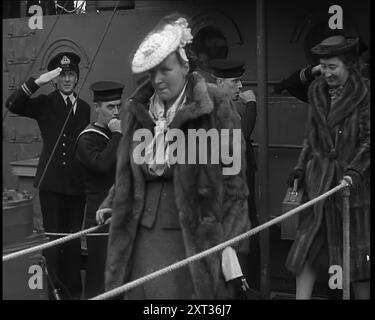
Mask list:
[[[186,90],[187,102],[177,111],[170,128],[183,130],[185,137],[188,129],[240,128],[240,119],[230,99],[215,85],[207,84],[199,73],[189,75]],[[144,210],[145,179],[140,166],[134,163],[131,145],[135,130],[147,128],[153,132],[154,124],[148,113],[148,102],[153,93],[151,83],[146,81],[129,98],[121,114],[123,137],[118,149],[116,182],[101,205],[113,209],[106,290],[127,282],[132,268],[133,244]],[[232,176],[222,174],[221,164],[175,165],[175,200],[187,257],[250,229],[243,136],[241,155],[238,156],[241,156],[241,170]],[[210,159],[209,154],[207,158]],[[221,252],[189,264],[189,269],[198,299],[232,297],[222,275]]]

